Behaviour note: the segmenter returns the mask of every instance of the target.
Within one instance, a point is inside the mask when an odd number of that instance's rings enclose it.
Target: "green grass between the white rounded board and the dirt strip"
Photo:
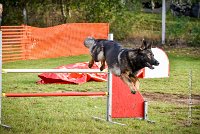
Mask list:
[[[170,60],[170,77],[162,79],[142,79],[141,88],[144,89],[144,92],[187,95],[189,89],[189,73],[192,70],[193,94],[199,94],[200,58],[174,54],[168,55]]]

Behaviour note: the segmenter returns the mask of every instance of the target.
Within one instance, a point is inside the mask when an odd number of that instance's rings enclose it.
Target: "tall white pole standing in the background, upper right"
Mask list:
[[[165,20],[166,20],[166,4],[162,0],[162,44],[165,44]]]

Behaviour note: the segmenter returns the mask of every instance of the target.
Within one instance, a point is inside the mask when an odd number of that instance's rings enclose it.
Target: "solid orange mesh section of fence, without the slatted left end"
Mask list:
[[[28,59],[88,54],[83,45],[87,36],[108,38],[108,24],[72,23],[49,28],[30,27]]]

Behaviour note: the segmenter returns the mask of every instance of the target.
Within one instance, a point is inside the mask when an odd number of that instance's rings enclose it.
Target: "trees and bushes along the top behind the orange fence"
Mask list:
[[[70,22],[110,23],[116,39],[123,39],[131,32],[132,11],[139,11],[139,0],[3,0],[5,6],[3,25],[21,25],[22,10],[27,10],[28,25],[47,27]],[[15,6],[16,5],[16,6]],[[11,9],[16,12],[9,12]],[[131,11],[131,12],[127,12]],[[64,15],[65,14],[65,15]]]

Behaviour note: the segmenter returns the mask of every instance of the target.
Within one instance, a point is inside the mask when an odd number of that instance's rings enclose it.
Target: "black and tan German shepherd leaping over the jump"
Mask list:
[[[105,62],[108,69],[116,76],[120,77],[126,83],[131,93],[135,94],[135,89],[139,88],[138,71],[144,67],[154,69],[153,65],[158,66],[159,62],[154,58],[151,51],[151,43],[142,40],[142,46],[137,49],[122,48],[122,46],[111,40],[94,39],[88,37],[84,45],[89,48],[92,59],[88,67],[91,68],[94,62],[101,62],[100,70],[105,68]],[[137,88],[136,88],[137,87]]]

